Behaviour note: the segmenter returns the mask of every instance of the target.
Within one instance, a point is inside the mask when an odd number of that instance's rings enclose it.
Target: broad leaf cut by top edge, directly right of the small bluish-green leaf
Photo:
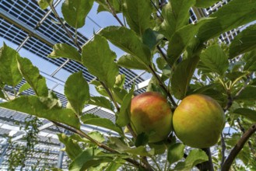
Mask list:
[[[162,11],[164,21],[160,26],[160,33],[171,40],[177,30],[188,24],[189,9],[192,5],[195,5],[195,0],[173,0],[164,5]]]

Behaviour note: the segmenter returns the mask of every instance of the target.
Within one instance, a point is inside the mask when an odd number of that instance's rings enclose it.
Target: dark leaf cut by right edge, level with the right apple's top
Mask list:
[[[247,86],[245,89],[240,92],[235,100],[255,100],[256,99],[256,87]]]

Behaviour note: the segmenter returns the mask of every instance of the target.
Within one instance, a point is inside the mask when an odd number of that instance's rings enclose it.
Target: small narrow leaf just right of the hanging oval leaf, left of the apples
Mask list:
[[[108,110],[114,111],[114,106],[112,103],[110,103],[110,100],[103,97],[103,96],[91,96],[89,99],[89,104],[101,106],[103,108],[106,108]]]

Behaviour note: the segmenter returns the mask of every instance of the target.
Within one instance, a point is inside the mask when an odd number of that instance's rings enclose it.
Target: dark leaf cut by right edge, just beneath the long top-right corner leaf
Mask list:
[[[256,50],[256,24],[248,26],[246,30],[243,30],[232,40],[230,58],[252,50]]]

